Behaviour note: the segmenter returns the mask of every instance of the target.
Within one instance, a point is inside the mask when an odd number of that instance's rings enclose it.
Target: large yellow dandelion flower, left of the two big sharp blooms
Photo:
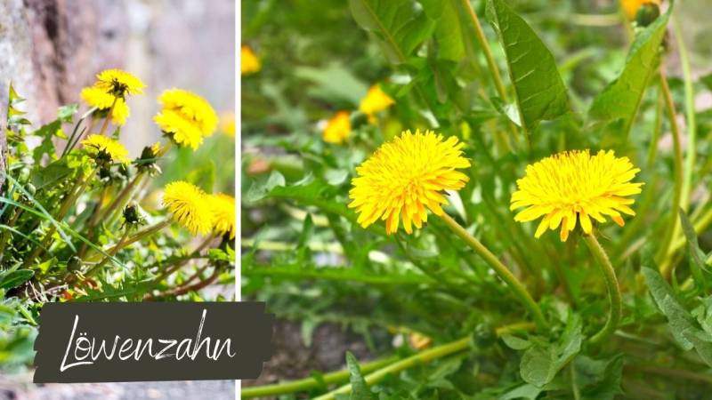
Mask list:
[[[431,131],[403,132],[384,143],[356,168],[349,197],[350,208],[358,212],[358,222],[366,228],[385,220],[385,230],[398,231],[399,217],[403,228],[421,228],[427,221],[427,210],[442,215],[442,204],[448,204],[444,190],[458,190],[468,180],[457,168],[468,168],[462,156],[463,143],[456,137],[444,139]]]

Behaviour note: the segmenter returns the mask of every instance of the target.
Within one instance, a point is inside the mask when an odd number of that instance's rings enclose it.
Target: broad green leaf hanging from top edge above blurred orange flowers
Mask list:
[[[413,0],[350,0],[353,19],[372,32],[394,64],[406,62],[435,26]]]

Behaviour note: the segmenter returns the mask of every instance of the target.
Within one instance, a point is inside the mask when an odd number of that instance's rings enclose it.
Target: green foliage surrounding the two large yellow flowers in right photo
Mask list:
[[[473,2],[473,10],[510,101],[492,83],[464,2],[243,2],[242,44],[261,65],[242,76],[243,296],[266,300],[271,312],[300,324],[307,345],[313,330],[326,323],[358,332],[369,353],[379,356],[411,354],[413,348],[402,346],[402,339],[413,332],[436,343],[473,337],[473,349],[464,355],[381,381],[372,388],[380,398],[601,399],[621,393],[626,398],[704,398],[704,388],[712,384],[709,364],[702,361],[705,350],[695,353],[670,336],[649,293],[651,283],[641,273],[643,267],[654,267],[650,254],[659,252],[669,221],[677,218],[671,206],[673,140],[657,64],[634,69],[651,75],[640,107],[613,108],[634,108],[629,133],[617,118],[599,121],[588,113],[626,67],[630,44],[643,27],[627,22],[613,1],[507,2],[553,54],[570,102],[570,112],[530,132],[528,145],[515,126],[513,86],[498,36],[485,18],[485,3]],[[689,205],[683,208],[694,227],[694,234],[688,232],[690,243],[698,236],[700,246],[688,248],[678,225],[670,239],[672,252],[658,262],[672,267],[682,307],[695,318],[704,316],[703,321],[712,311],[707,283],[712,277],[712,69],[707,61],[712,11],[702,0],[676,3],[661,45],[651,47],[663,53],[661,68],[676,104],[685,160],[691,150],[694,155],[685,167],[690,185],[684,202]],[[396,9],[389,14],[390,28],[401,54],[392,57],[389,37],[363,28],[368,20],[363,4]],[[662,11],[669,5],[665,2]],[[687,60],[680,58],[681,39]],[[395,104],[369,124],[358,109],[374,84]],[[342,144],[326,143],[322,130],[340,110],[350,113],[352,132]],[[688,148],[691,120],[696,142]],[[547,351],[554,348],[552,357],[573,360],[564,369],[554,368],[546,384],[537,386],[523,377],[527,368],[554,363],[538,360],[526,366],[522,351],[513,349],[516,344],[496,338],[496,328],[522,322],[522,308],[440,220],[429,220],[412,236],[385,236],[379,224],[360,228],[346,208],[355,167],[382,142],[416,128],[465,141],[473,162],[466,172],[471,180],[450,196],[447,211],[514,269],[557,324],[547,338],[530,336],[548,343]],[[625,292],[623,324],[602,348],[579,342],[574,355],[567,355],[560,353],[564,329],[583,337],[603,324],[608,303],[601,275],[580,240],[561,243],[554,233],[534,239],[534,224],[515,223],[508,206],[527,164],[574,148],[613,148],[618,156],[630,157],[642,169],[636,181],[645,186],[636,198],[638,215],[627,219],[625,228],[601,227],[603,247]],[[691,252],[701,255],[690,257]],[[701,281],[690,278],[695,268],[703,271]],[[700,322],[695,329],[706,330],[707,324]],[[705,338],[712,342],[709,332]],[[272,379],[285,378],[279,365],[272,367]],[[309,388],[314,395],[327,387],[322,381]]]

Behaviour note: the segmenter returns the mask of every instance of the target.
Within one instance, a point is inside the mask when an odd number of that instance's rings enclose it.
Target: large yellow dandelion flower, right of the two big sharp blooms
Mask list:
[[[635,215],[629,207],[635,200],[626,196],[641,192],[643,183],[630,182],[638,172],[627,157],[618,158],[612,150],[595,156],[588,150],[565,151],[527,166],[524,178],[517,180],[519,190],[512,195],[510,209],[526,207],[514,216],[519,222],[544,216],[536,237],[561,225],[562,242],[576,228],[577,217],[586,234],[593,229],[591,219],[605,222],[603,215],[622,227],[620,212]]]

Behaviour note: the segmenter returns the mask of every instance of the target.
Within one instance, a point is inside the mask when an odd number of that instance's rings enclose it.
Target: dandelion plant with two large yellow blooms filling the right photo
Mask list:
[[[242,293],[378,356],[243,398],[708,396],[685,4],[310,3],[243,9]]]

